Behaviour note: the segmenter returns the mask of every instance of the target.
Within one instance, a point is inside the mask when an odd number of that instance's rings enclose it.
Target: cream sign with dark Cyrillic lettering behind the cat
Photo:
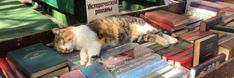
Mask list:
[[[119,13],[119,0],[86,0],[87,21]]]

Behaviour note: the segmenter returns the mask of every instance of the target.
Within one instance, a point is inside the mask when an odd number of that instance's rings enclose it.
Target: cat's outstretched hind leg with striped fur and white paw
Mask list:
[[[140,40],[138,41],[156,42],[162,46],[170,46],[178,42],[176,38],[164,33],[157,33],[157,34],[147,33],[140,36],[139,39]]]

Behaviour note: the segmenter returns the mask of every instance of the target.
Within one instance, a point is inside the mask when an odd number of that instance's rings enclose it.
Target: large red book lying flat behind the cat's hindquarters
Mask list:
[[[170,32],[185,28],[185,25],[189,22],[186,16],[164,10],[146,12],[144,15],[141,15],[141,17],[152,25]]]

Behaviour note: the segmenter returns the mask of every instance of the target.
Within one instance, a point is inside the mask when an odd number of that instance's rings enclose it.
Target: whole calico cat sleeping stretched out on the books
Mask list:
[[[98,18],[86,25],[54,28],[52,31],[55,35],[55,49],[60,53],[80,50],[80,64],[86,66],[94,62],[105,46],[116,46],[134,40],[157,42],[163,46],[177,42],[176,38],[133,16]]]

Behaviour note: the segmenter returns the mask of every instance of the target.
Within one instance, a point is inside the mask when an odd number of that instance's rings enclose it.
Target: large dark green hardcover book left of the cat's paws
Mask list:
[[[7,56],[29,78],[36,78],[67,66],[64,57],[42,43],[8,52]]]

